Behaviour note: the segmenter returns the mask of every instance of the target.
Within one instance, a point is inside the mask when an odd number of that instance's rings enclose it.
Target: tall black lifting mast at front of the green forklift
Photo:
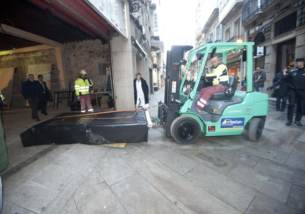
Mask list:
[[[176,119],[180,105],[175,100],[179,100],[181,83],[181,65],[186,65],[184,53],[193,49],[193,46],[171,46],[171,50],[167,51],[166,57],[166,80],[164,104],[158,109],[160,124],[166,127],[167,137],[171,137],[171,123]],[[165,114],[163,115],[163,110]]]

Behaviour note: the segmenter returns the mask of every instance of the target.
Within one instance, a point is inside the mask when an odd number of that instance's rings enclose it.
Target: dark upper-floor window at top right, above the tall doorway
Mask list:
[[[296,28],[297,13],[294,12],[274,24],[274,37],[282,35]]]

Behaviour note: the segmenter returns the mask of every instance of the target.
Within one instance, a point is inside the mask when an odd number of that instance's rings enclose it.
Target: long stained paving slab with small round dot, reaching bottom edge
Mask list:
[[[241,213],[141,150],[123,158],[185,213]]]

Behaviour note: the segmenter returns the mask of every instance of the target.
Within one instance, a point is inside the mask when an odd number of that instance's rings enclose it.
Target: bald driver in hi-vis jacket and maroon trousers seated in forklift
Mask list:
[[[228,68],[217,57],[212,58],[213,72],[211,74],[205,74],[205,77],[213,79],[213,86],[206,87],[200,90],[201,98],[197,102],[196,108],[201,111],[204,105],[215,93],[224,92],[229,86]]]

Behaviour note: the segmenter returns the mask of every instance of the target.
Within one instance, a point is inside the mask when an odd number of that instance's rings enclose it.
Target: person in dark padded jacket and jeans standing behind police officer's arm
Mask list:
[[[273,78],[273,83],[277,82],[279,79],[281,79],[283,76],[286,75],[286,73],[288,72],[288,68],[286,66],[284,66],[282,68],[282,72],[281,73],[277,73],[274,78]],[[279,85],[279,88],[277,90],[274,90],[274,95],[276,96],[276,110],[277,111],[285,111],[286,109],[286,105],[287,105],[287,94],[288,94],[288,83],[282,82]],[[281,108],[281,99],[282,100],[282,108]]]

